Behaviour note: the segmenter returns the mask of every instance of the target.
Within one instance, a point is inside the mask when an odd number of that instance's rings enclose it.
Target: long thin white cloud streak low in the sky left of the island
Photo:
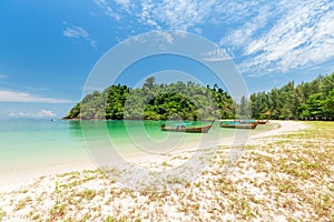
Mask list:
[[[0,102],[71,103],[71,100],[36,97],[26,92],[0,90]]]

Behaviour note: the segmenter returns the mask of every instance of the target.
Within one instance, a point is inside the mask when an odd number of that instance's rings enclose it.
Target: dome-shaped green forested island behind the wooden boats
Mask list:
[[[140,89],[118,84],[88,94],[66,119],[208,120],[234,118],[234,113],[233,99],[217,85],[157,84],[148,78]]]

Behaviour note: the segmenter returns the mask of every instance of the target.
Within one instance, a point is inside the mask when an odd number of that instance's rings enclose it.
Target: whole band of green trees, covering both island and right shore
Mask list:
[[[207,119],[334,120],[334,73],[312,82],[288,82],[269,92],[253,93],[236,103],[215,84],[157,84],[148,78],[140,89],[111,85],[77,103],[65,119],[207,120]]]

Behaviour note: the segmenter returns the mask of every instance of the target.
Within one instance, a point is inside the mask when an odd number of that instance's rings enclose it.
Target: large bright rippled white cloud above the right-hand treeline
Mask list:
[[[282,0],[277,11],[235,30],[220,43],[237,46],[244,57],[239,69],[244,73],[262,75],[269,72],[288,72],[315,65],[334,57],[334,2]],[[263,22],[261,22],[263,21]],[[266,26],[266,31],[257,34]],[[247,31],[248,30],[248,31]]]

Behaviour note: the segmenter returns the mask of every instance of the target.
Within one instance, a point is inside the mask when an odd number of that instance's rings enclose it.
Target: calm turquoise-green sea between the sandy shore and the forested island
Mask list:
[[[53,172],[71,165],[96,164],[131,157],[159,157],[184,149],[215,147],[236,137],[218,122],[208,133],[163,132],[160,121],[0,121],[0,174],[19,176]],[[170,122],[167,122],[171,124]],[[206,124],[206,123],[196,123]],[[257,131],[266,130],[258,125]],[[247,130],[246,130],[247,131]],[[237,135],[239,138],[246,137]],[[73,169],[75,170],[75,169]],[[2,178],[2,181],[4,180]]]

